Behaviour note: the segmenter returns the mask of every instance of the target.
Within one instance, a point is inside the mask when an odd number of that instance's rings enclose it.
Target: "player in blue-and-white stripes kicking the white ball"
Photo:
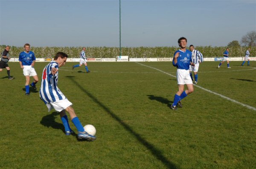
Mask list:
[[[61,121],[64,125],[66,135],[71,135],[73,131],[70,129],[66,110],[70,115],[71,121],[78,130],[78,138],[88,141],[94,141],[95,136],[89,135],[84,131],[84,127],[76,116],[75,110],[71,107],[72,103],[64,96],[59,90],[58,84],[58,68],[65,65],[67,60],[67,54],[58,52],[54,60],[50,62],[43,70],[42,82],[40,88],[40,98],[46,104],[48,111],[55,109],[60,113]]]

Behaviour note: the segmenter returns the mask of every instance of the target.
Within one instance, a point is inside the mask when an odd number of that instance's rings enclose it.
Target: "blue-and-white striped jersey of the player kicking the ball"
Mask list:
[[[55,61],[50,62],[43,70],[42,82],[40,88],[40,98],[45,104],[55,102],[58,100],[66,99],[61,90],[58,89],[58,72],[52,75],[52,68],[58,69],[58,63]]]

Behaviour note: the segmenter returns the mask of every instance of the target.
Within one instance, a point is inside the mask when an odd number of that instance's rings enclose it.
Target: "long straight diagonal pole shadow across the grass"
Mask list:
[[[85,90],[78,82],[76,82],[75,79],[72,78],[72,76],[66,76],[68,77],[74,85],[77,85],[81,91],[83,91],[87,96],[89,96],[96,104],[98,104],[100,107],[102,107],[103,110],[105,110],[106,113],[111,115],[112,118],[114,118],[119,124],[121,124],[128,132],[130,132],[134,137],[139,141],[143,146],[145,146],[152,155],[154,155],[159,161],[161,161],[167,168],[169,169],[177,169],[177,166],[175,166],[174,163],[169,161],[162,152],[154,147],[153,144],[150,144],[148,141],[146,141],[144,138],[142,138],[137,132],[131,129],[131,127],[122,121],[117,115],[115,115],[108,107],[106,107],[104,104],[102,104],[97,98],[95,98],[90,92]],[[153,133],[152,133],[153,134]]]

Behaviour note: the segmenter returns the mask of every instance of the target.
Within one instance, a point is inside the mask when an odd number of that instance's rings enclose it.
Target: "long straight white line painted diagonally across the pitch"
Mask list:
[[[136,63],[137,63],[137,64],[140,64],[140,65],[143,65],[143,64],[138,63],[138,62],[136,62]],[[143,65],[143,66],[146,66],[146,67],[148,67],[148,68],[152,68],[152,69],[158,70],[158,71],[160,71],[160,72],[166,73],[166,72],[164,72],[164,71],[162,71],[162,70],[160,70],[160,69],[153,68],[153,67],[151,67],[151,66],[147,66],[147,65]],[[172,74],[169,74],[169,73],[166,73],[166,74],[168,74],[168,75],[170,75],[170,76],[176,78],[176,76],[174,76],[174,75],[172,75]],[[248,109],[252,109],[252,110],[256,111],[256,108],[255,108],[255,107],[249,106],[249,105],[247,105],[247,104],[243,104],[243,103],[241,103],[241,102],[239,102],[239,101],[236,101],[236,100],[234,100],[234,99],[230,99],[229,97],[223,96],[223,95],[221,95],[221,94],[219,94],[219,93],[215,93],[215,92],[213,92],[213,91],[211,91],[211,90],[205,89],[204,87],[201,87],[201,86],[198,86],[198,85],[195,85],[195,84],[194,84],[194,86],[196,86],[196,87],[198,87],[198,88],[200,88],[200,89],[202,89],[202,90],[205,90],[205,91],[207,91],[207,92],[209,92],[209,93],[212,93],[212,94],[215,94],[215,95],[217,95],[217,96],[220,96],[220,97],[222,97],[222,98],[224,98],[224,99],[227,99],[227,100],[229,100],[229,101],[232,101],[232,102],[234,102],[234,103],[240,104],[240,105],[242,105],[242,106],[244,106],[244,107],[247,107]]]

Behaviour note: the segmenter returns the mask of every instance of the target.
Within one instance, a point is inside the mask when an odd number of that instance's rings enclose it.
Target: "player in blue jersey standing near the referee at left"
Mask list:
[[[26,93],[25,95],[29,95],[29,81],[30,81],[30,76],[33,77],[34,81],[30,84],[36,90],[36,83],[38,82],[38,76],[37,73],[35,72],[35,54],[30,51],[30,45],[26,43],[24,45],[25,51],[20,52],[19,56],[19,61],[20,61],[20,68],[23,69],[23,74],[26,77],[26,83],[25,83],[25,89]]]

